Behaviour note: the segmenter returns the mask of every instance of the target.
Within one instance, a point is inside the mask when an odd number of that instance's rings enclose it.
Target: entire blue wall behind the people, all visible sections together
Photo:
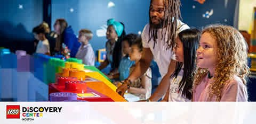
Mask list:
[[[225,6],[225,1],[227,5]],[[206,0],[199,4],[194,0],[182,0],[181,14],[183,22],[190,26],[202,26],[222,23],[234,25],[235,10],[238,0]],[[90,41],[94,51],[105,48],[106,37],[98,37],[97,30],[106,25],[106,21],[114,18],[125,24],[126,33],[142,32],[148,23],[149,0],[112,0],[114,7],[108,8],[109,0],[52,0],[52,29],[58,18],[65,18],[78,35],[82,28],[93,31]],[[19,4],[23,8],[19,8]],[[193,8],[194,6],[194,8]],[[73,8],[73,12],[70,9]],[[43,21],[43,2],[41,0],[2,1],[0,5],[0,47],[33,51],[34,26]],[[202,15],[213,10],[209,19]],[[226,20],[226,21],[225,21]]]

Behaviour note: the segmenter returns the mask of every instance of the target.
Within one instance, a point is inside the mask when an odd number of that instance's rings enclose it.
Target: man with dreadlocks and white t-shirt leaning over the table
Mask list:
[[[169,87],[170,77],[175,69],[175,55],[172,51],[175,38],[179,32],[189,26],[179,20],[180,0],[151,0],[149,7],[149,24],[141,34],[143,54],[132,74],[117,88],[117,93],[124,95],[130,84],[144,74],[151,61],[156,61],[162,81],[155,93],[147,101],[158,101]]]

